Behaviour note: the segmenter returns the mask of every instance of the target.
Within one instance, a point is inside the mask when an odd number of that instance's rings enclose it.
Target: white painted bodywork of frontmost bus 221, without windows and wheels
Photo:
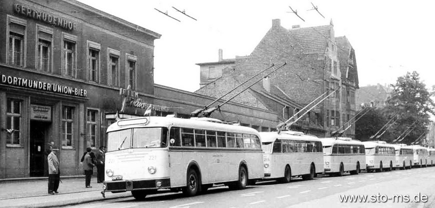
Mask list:
[[[143,122],[140,120],[142,119]],[[132,139],[125,139],[128,144],[121,144],[122,136],[111,138],[113,132],[133,129],[138,131],[142,128],[162,128],[167,129],[167,135],[161,139],[161,144],[149,144],[148,147],[133,147],[134,134]],[[179,138],[173,135],[172,130],[176,129],[198,129],[198,132],[215,132],[214,141],[219,142],[218,132],[223,132],[225,146],[217,146],[197,142],[199,134],[192,135],[190,141],[194,144],[184,145],[184,137],[179,133]],[[132,131],[132,132],[133,132]],[[178,132],[181,132],[179,130]],[[196,130],[195,130],[196,132]],[[247,135],[245,139],[252,140],[249,136],[258,138],[256,149],[243,147],[238,148],[233,137],[233,146],[230,146],[230,137],[225,132],[239,133]],[[247,170],[248,179],[260,179],[263,177],[262,152],[260,147],[258,131],[246,126],[238,126],[224,123],[210,122],[200,119],[184,119],[174,117],[141,117],[132,119],[122,119],[107,128],[108,146],[105,153],[105,181],[103,191],[122,192],[128,190],[155,190],[159,188],[179,188],[186,186],[186,174],[190,165],[196,165],[197,174],[201,184],[225,183],[238,180],[239,168],[244,166]],[[176,134],[176,133],[175,133]],[[228,134],[229,135],[229,134]],[[207,138],[205,134],[204,138]],[[110,139],[118,139],[111,142]],[[195,140],[195,138],[197,140]],[[130,140],[129,140],[130,139]],[[177,141],[176,139],[179,139]],[[158,140],[158,139],[157,139]],[[196,141],[196,143],[195,143]],[[208,140],[207,140],[208,141]],[[178,144],[176,143],[178,142]],[[237,140],[238,142],[238,140]],[[112,144],[111,144],[112,143]],[[117,146],[123,146],[117,148]],[[112,145],[112,146],[111,146]],[[115,146],[113,146],[115,145]],[[128,147],[124,147],[127,145]],[[200,145],[200,146],[199,146]],[[252,144],[253,146],[254,144]],[[155,147],[162,146],[162,147]],[[250,146],[250,144],[249,144]],[[109,172],[110,174],[107,174]]]

